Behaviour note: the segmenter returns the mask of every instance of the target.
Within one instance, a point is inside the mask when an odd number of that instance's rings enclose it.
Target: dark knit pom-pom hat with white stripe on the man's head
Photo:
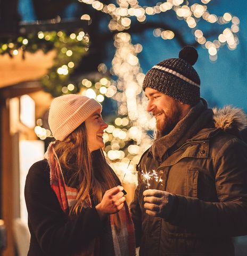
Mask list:
[[[192,67],[198,53],[192,46],[185,46],[179,58],[162,60],[147,72],[143,81],[146,87],[158,90],[179,102],[195,105],[200,100],[200,77]]]

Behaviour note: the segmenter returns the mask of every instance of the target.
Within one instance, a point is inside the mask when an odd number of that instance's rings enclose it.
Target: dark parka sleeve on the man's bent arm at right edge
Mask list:
[[[227,141],[215,159],[218,202],[174,195],[176,213],[168,222],[212,236],[247,235],[247,145]]]

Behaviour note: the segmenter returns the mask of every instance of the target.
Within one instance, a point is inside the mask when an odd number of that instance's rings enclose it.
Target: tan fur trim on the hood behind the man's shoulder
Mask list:
[[[230,129],[242,130],[247,127],[247,116],[240,108],[225,106],[223,108],[213,108],[213,120],[215,127],[224,131]]]

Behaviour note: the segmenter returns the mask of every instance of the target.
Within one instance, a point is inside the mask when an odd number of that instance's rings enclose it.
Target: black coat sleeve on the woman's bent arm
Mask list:
[[[50,187],[48,165],[42,162],[30,168],[24,191],[31,235],[47,255],[71,255],[100,235],[102,222],[94,207],[68,219]]]

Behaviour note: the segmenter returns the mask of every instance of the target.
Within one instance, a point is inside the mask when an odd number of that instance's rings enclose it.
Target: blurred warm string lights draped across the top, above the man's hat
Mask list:
[[[233,17],[232,14],[228,12],[224,13],[223,17],[218,17],[216,14],[209,13],[208,4],[210,3],[210,0],[201,0],[202,4],[195,3],[191,6],[188,1],[184,0],[167,0],[167,2],[159,2],[153,6],[141,6],[137,1],[130,0],[117,1],[116,4],[104,4],[100,1],[94,0],[79,0],[79,2],[92,5],[94,9],[109,14],[111,16],[111,20],[108,25],[109,29],[111,31],[118,32],[122,32],[123,30],[130,28],[131,17],[136,17],[137,21],[143,22],[146,20],[146,15],[155,15],[157,13],[166,12],[168,10],[173,10],[176,13],[178,19],[184,19],[187,26],[191,29],[199,25],[201,18],[211,24],[218,22],[219,25],[224,25],[232,21],[229,29],[233,34],[232,38],[234,38],[234,41],[226,40],[225,42],[230,50],[236,49],[236,45],[238,44],[238,36],[236,33],[239,31],[239,19],[237,17]],[[89,15],[85,15],[88,14],[84,14],[82,16],[84,19],[90,19]],[[200,31],[202,32],[201,29]],[[219,37],[220,34],[217,37]],[[171,40],[175,37],[174,32],[170,30],[164,31],[160,28],[154,29],[153,35],[155,37],[162,37],[164,40]],[[205,46],[207,39],[202,35],[203,32],[199,36],[195,35],[195,40],[202,46]],[[223,38],[221,36],[221,40],[219,40],[220,45],[217,48],[218,50],[225,45],[225,42],[223,42],[222,39]],[[213,51],[213,53],[215,53],[215,51]]]

